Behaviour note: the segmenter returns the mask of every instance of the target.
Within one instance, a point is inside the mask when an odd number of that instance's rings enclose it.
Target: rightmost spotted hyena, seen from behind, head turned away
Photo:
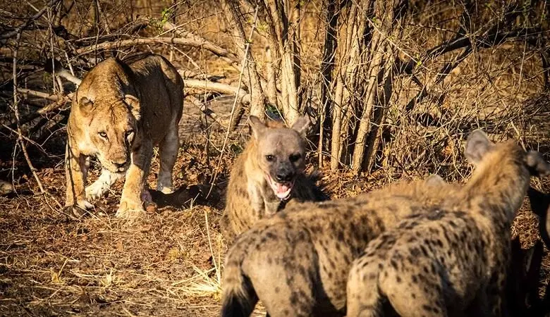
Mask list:
[[[444,204],[403,220],[353,262],[348,316],[502,316],[511,222],[531,175],[549,165],[515,142],[477,130],[465,156],[472,178]]]

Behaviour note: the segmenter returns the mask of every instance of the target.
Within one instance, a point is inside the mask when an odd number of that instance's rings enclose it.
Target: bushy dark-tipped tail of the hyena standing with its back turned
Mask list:
[[[221,317],[250,316],[258,302],[258,296],[250,278],[244,275],[238,263],[233,265],[228,263],[224,274]]]

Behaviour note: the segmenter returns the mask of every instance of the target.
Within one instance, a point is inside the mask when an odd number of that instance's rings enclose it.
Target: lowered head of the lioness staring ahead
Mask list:
[[[129,94],[123,99],[95,99],[79,97],[73,107],[88,125],[88,147],[102,167],[113,173],[124,172],[130,164],[130,150],[135,141],[137,121],[140,119],[140,102]]]

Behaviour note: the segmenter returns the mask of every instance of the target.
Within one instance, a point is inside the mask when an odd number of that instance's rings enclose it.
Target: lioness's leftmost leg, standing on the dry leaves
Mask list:
[[[87,178],[88,157],[80,154],[67,144],[65,151],[65,175],[67,178],[65,207],[73,209],[75,216],[82,216],[82,212],[75,207],[86,211],[94,206],[85,199],[84,186]]]

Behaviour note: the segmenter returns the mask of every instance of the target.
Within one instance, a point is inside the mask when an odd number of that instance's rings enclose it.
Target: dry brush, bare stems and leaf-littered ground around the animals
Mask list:
[[[312,116],[310,165],[334,198],[429,173],[463,181],[475,128],[550,158],[549,13],[537,0],[1,1],[0,180],[16,192],[0,196],[0,314],[216,315],[218,220],[249,113]],[[179,189],[154,192],[161,209],[137,223],[114,218],[120,184],[70,218],[75,87],[45,69],[53,57],[82,77],[142,51],[185,80]],[[528,209],[513,230],[524,248],[539,240]]]

